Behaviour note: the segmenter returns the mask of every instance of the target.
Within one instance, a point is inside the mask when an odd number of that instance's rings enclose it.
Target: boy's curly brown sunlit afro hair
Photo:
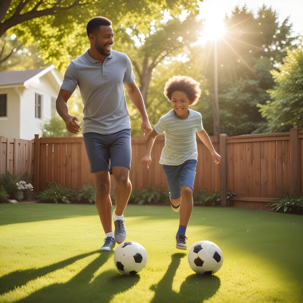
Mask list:
[[[164,95],[171,101],[174,91],[184,91],[189,99],[190,105],[198,102],[201,96],[200,84],[189,76],[172,76],[164,87]]]

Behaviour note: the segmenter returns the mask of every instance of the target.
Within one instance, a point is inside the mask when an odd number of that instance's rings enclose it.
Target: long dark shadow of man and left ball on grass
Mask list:
[[[18,286],[24,285],[41,275],[60,269],[80,258],[85,258],[96,252],[83,254],[74,258],[69,258],[62,262],[58,262],[51,266],[38,270],[28,271],[23,273],[20,280],[20,272],[15,272],[1,278],[2,283],[11,282],[11,287],[14,288],[18,281]],[[140,279],[139,275],[123,276],[115,270],[108,270],[94,277],[94,273],[103,266],[112,253],[102,253],[98,255],[88,266],[76,274],[71,280],[66,283],[56,283],[45,288],[39,289],[31,293],[28,297],[17,302],[109,302],[112,297],[118,293],[124,292],[133,287]],[[26,272],[26,271],[25,271]],[[27,278],[26,278],[27,276]],[[7,290],[6,290],[7,291]]]

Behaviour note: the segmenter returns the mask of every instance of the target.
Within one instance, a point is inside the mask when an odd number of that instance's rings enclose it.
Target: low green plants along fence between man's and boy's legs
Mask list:
[[[141,191],[133,190],[128,203],[138,205],[169,204],[169,194],[157,187],[149,187]]]

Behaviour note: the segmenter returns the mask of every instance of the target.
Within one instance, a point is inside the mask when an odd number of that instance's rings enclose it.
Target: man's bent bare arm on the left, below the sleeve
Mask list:
[[[60,90],[57,100],[56,109],[66,124],[66,129],[72,134],[78,134],[80,132],[80,125],[77,123],[79,119],[75,116],[71,116],[68,113],[67,101],[73,94],[72,91]]]

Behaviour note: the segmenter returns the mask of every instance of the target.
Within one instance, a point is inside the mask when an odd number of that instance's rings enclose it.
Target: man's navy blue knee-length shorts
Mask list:
[[[130,129],[124,129],[109,135],[85,133],[83,138],[90,161],[91,173],[101,170],[109,171],[114,166],[131,169],[132,146]]]

